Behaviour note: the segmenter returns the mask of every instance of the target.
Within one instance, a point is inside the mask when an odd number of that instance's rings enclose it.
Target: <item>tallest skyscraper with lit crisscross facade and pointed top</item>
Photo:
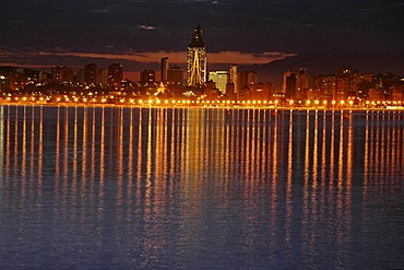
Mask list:
[[[200,25],[193,30],[188,45],[187,78],[189,86],[203,85],[206,82],[206,44]]]

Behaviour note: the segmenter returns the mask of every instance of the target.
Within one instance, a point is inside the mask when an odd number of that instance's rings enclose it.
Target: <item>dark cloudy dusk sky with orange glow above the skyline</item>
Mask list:
[[[200,24],[209,63],[265,63],[300,52],[404,52],[402,0],[1,0],[0,64],[155,68],[183,63]]]

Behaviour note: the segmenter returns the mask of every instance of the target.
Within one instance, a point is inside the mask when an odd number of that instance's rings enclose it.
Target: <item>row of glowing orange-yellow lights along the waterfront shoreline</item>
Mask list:
[[[114,96],[110,96],[110,98],[114,98]],[[38,99],[36,99],[35,97],[8,97],[7,101],[22,101],[22,102],[35,102],[35,101],[38,101],[38,102],[45,102],[46,98],[40,96],[38,97]],[[93,102],[93,103],[97,103],[98,101],[96,98],[87,98],[87,97],[82,97],[82,98],[79,98],[79,97],[71,97],[69,98],[68,96],[64,96],[64,98],[61,98],[61,97],[58,97],[56,99],[58,103],[59,102],[84,102],[84,103],[87,103],[87,102]],[[108,99],[106,97],[103,97],[100,98],[100,102],[102,103],[107,103]],[[124,98],[120,98],[119,101],[120,103],[126,103],[126,99]],[[134,98],[130,98],[129,102],[131,104],[135,104],[135,99]],[[202,104],[202,105],[278,105],[280,104],[280,101],[278,99],[275,99],[275,101],[190,101],[190,99],[179,99],[179,101],[176,101],[176,99],[165,99],[164,102],[162,102],[161,99],[139,99],[138,101],[138,104],[140,105],[161,105],[161,104],[165,104],[165,105],[168,105],[168,104],[173,104],[173,105],[190,105],[190,104]],[[294,99],[289,99],[288,101],[288,105],[289,106],[294,106],[295,104],[298,104],[299,106],[312,106],[312,105],[316,105],[316,106],[320,106],[323,105],[323,106],[326,106],[329,104],[329,101],[324,99],[322,102],[320,102],[319,99],[314,99],[314,101],[310,101],[310,99],[307,99],[306,102],[301,102],[301,101],[298,101],[297,103],[294,101]],[[349,99],[348,102],[345,102],[345,101],[340,101],[340,102],[336,102],[336,101],[331,101],[331,105],[335,106],[335,105],[341,105],[341,106],[345,106],[345,105],[349,105],[349,106],[353,106],[354,105],[354,101],[353,99]],[[366,101],[366,105],[403,105],[404,103],[402,101]]]

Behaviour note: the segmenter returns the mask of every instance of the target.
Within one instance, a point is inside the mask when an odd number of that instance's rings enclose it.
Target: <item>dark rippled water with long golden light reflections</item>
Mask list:
[[[0,107],[0,268],[404,268],[404,115]]]

